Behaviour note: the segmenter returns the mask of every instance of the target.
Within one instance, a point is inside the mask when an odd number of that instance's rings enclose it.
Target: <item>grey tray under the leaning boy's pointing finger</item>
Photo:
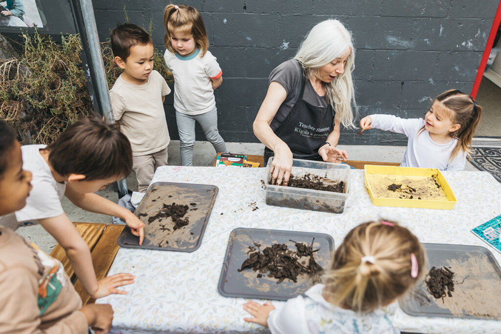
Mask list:
[[[144,223],[143,244],[139,246],[139,237],[133,235],[127,226],[120,234],[118,244],[121,247],[131,248],[195,251],[200,247],[218,191],[216,186],[207,184],[153,183],[134,212]],[[148,218],[155,215],[162,208],[163,203],[172,204],[173,202],[189,206],[184,216],[189,218],[188,225],[174,230],[171,217],[148,222]],[[190,203],[196,203],[196,205],[190,205]]]

